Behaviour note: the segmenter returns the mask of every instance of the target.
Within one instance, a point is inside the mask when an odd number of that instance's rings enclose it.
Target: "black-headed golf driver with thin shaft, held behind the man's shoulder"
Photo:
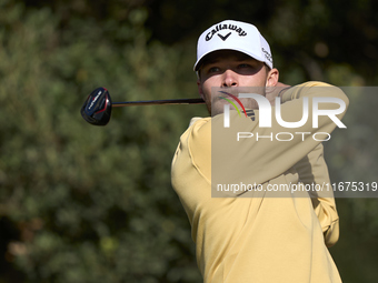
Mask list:
[[[170,99],[111,102],[109,91],[106,88],[98,88],[89,94],[80,112],[88,123],[93,125],[106,125],[110,120],[112,108],[167,104],[205,104],[205,101],[202,99]]]

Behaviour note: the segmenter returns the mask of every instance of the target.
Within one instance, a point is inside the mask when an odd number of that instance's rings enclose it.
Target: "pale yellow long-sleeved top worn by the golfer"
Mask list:
[[[282,117],[299,121],[306,97],[337,98],[348,105],[340,89],[307,82],[285,92]],[[321,107],[336,108],[335,103],[322,103]],[[233,128],[221,137],[222,144],[227,144],[237,131],[259,131],[261,135],[282,130],[312,134],[317,131],[331,133],[336,128],[331,119],[321,117],[318,128],[312,128],[309,119],[300,129],[282,129],[276,122],[271,129],[261,129],[258,111],[255,121],[232,117],[237,111],[230,112]],[[344,113],[337,115],[338,119],[342,117]],[[226,175],[225,180],[246,176],[246,182],[256,182],[265,190],[251,190],[233,198],[212,198],[211,173],[218,172],[211,171],[211,162],[218,160],[211,156],[215,154],[211,127],[222,121],[222,114],[195,119],[181,135],[172,161],[172,186],[191,224],[203,282],[341,282],[327,249],[339,235],[332,193],[311,192],[312,198],[304,198],[304,194],[288,191],[275,198],[275,192],[267,190],[280,184],[329,183],[321,142],[307,134],[306,139],[295,137],[286,143],[246,139],[240,146],[226,146],[231,148],[226,152],[220,146],[219,162],[227,160],[238,164],[237,171],[226,168],[221,173]]]

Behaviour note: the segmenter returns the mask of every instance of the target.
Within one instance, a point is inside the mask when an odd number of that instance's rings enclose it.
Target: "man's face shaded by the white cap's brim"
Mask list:
[[[205,100],[211,115],[223,112],[220,99],[222,94],[212,94],[211,88],[222,88],[225,91],[238,95],[239,88],[249,87],[253,93],[265,95],[265,87],[273,87],[278,80],[277,69],[267,70],[265,63],[253,58],[231,50],[215,51],[208,54],[199,69],[198,90]],[[222,95],[223,97],[223,95]],[[257,109],[252,99],[240,99],[246,109]]]

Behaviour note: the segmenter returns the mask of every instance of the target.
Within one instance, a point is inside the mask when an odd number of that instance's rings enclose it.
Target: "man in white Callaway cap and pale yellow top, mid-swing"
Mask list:
[[[203,282],[341,282],[328,252],[338,241],[339,219],[332,192],[325,190],[330,181],[321,142],[341,124],[346,95],[322,82],[280,83],[265,38],[232,20],[199,37],[195,71],[210,117],[193,118],[181,135],[171,178]],[[243,88],[260,99],[239,103]],[[263,101],[269,107],[262,109]],[[335,115],[314,118],[320,105]],[[297,127],[277,121],[278,108],[286,122],[300,121]],[[261,115],[269,109],[271,115]],[[324,190],[297,191],[310,184]]]

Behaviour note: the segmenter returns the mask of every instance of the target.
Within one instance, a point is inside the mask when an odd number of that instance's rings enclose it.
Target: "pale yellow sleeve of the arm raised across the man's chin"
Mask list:
[[[207,179],[221,182],[248,180],[262,184],[290,170],[304,159],[321,140],[314,139],[316,133],[331,133],[336,123],[327,115],[318,118],[318,125],[312,127],[312,99],[332,98],[348,105],[348,98],[336,87],[320,82],[307,82],[296,85],[284,93],[280,105],[281,117],[287,122],[302,119],[304,99],[308,100],[309,115],[299,128],[285,128],[271,111],[271,127],[259,127],[259,111],[255,111],[255,121],[239,117],[230,111],[230,128],[223,128],[223,114],[211,120],[195,122],[188,137],[189,151],[197,170]],[[336,110],[339,105],[332,102],[321,103],[322,110]],[[345,111],[336,115],[341,120]],[[237,139],[240,132],[248,133],[250,139]],[[277,137],[292,137],[290,141],[280,141]],[[277,135],[281,134],[281,135]],[[318,137],[319,138],[319,137]],[[211,165],[212,164],[212,165]],[[209,170],[211,168],[211,170]],[[246,181],[248,181],[246,180]]]

